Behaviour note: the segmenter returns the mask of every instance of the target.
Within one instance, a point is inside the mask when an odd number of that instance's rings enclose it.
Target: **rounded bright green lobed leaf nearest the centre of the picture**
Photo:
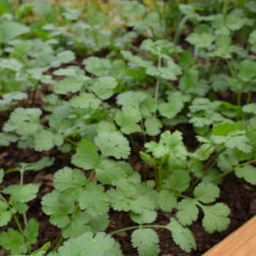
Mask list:
[[[140,126],[137,124],[140,120],[140,111],[132,106],[124,106],[115,116],[116,124],[121,127],[121,132],[124,134],[140,132]]]

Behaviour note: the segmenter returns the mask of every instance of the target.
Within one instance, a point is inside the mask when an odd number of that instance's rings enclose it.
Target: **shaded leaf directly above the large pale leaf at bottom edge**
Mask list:
[[[91,227],[86,225],[90,221],[90,216],[86,212],[77,211],[72,214],[72,219],[67,227],[62,229],[64,238],[76,238],[87,231],[91,231]]]

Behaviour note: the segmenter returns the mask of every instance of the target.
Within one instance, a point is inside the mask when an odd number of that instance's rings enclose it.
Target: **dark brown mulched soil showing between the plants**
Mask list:
[[[50,86],[42,85],[42,91],[44,91],[45,94],[49,94],[52,92],[52,89],[50,88]],[[40,95],[39,93],[36,94],[36,102],[34,104],[34,108],[42,108],[42,105],[44,105],[41,97],[42,95]],[[232,100],[233,99],[230,99],[230,101]],[[4,115],[4,113],[0,113],[1,127],[4,122],[7,121],[7,119],[8,116]],[[170,129],[173,131],[173,128]],[[180,129],[181,132],[184,133],[184,143],[189,151],[195,150],[197,143],[195,143],[195,140],[193,140],[193,138],[195,138],[195,133],[192,129],[192,126],[189,124],[180,124],[178,125],[178,127],[176,127],[176,129]],[[141,143],[141,145],[143,145],[143,143]],[[138,140],[135,140],[134,145],[131,146],[133,147],[132,159],[135,162],[136,169],[140,172],[143,165],[140,157],[138,157],[138,151],[141,149],[140,138]],[[24,183],[33,182],[41,184],[37,198],[29,203],[29,211],[27,214],[28,219],[35,218],[39,222],[39,236],[37,243],[34,244],[34,249],[38,249],[40,246],[48,241],[53,243],[53,241],[55,241],[56,237],[59,235],[59,228],[51,225],[48,221],[48,216],[46,216],[42,212],[40,201],[43,195],[53,189],[53,174],[62,167],[74,166],[70,163],[69,156],[61,154],[61,152],[57,151],[55,148],[50,151],[37,152],[31,148],[20,150],[15,143],[12,143],[10,146],[7,147],[0,146],[0,166],[4,168],[4,170],[12,167],[17,167],[18,162],[35,162],[44,156],[55,157],[55,164],[52,167],[48,167],[40,172],[27,171],[24,175]],[[148,177],[150,176],[151,170],[149,168]],[[4,176],[4,182],[0,185],[0,189],[3,189],[10,184],[18,184],[19,178],[19,173],[7,174],[6,176]],[[221,194],[218,198],[218,201],[225,203],[227,206],[229,206],[231,210],[231,223],[227,230],[221,233],[206,233],[201,225],[203,214],[200,213],[200,217],[197,222],[194,222],[190,226],[192,233],[194,233],[195,236],[197,249],[192,250],[192,252],[190,253],[186,253],[173,242],[170,231],[156,228],[155,230],[159,234],[160,239],[159,245],[161,252],[159,252],[159,255],[200,256],[212,246],[219,243],[219,241],[222,241],[223,238],[232,233],[238,227],[243,225],[244,222],[246,222],[248,219],[256,214],[256,187],[253,187],[252,185],[246,183],[244,179],[236,178],[233,173],[231,173],[229,176],[226,176],[219,187],[221,189]],[[159,211],[157,220],[154,222],[154,224],[167,225],[170,217],[172,216],[175,217],[175,212],[169,214]],[[21,216],[20,222],[23,225],[23,218]],[[129,214],[123,211],[118,212],[113,211],[113,209],[110,210],[110,225],[108,227],[107,233],[132,225],[136,224],[132,222],[132,220],[129,218]],[[8,227],[13,227],[16,229],[15,222],[10,222]],[[4,230],[7,230],[7,227],[0,228],[0,232]],[[114,236],[116,241],[121,244],[121,249],[123,250],[125,256],[138,255],[138,252],[132,247],[131,244],[131,233],[132,231],[127,231],[118,233]],[[6,255],[4,249],[0,249],[0,256],[4,255]]]

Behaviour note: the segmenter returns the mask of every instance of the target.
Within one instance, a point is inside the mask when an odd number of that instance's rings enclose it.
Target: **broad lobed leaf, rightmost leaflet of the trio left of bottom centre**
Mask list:
[[[87,210],[91,216],[107,213],[110,208],[110,199],[104,190],[100,184],[94,182],[87,184],[86,190],[81,192],[78,198],[80,208]]]

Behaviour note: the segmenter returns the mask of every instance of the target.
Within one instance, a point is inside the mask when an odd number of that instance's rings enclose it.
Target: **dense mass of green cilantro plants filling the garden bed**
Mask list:
[[[118,7],[129,32],[107,30],[108,15],[98,19],[91,3],[53,8],[37,0],[12,13],[0,2],[0,110],[7,116],[0,145],[58,150],[70,159],[55,169],[54,188],[41,199],[59,236],[37,250],[39,219],[26,212],[40,185],[26,183],[24,173],[53,168],[55,159],[0,169],[0,227],[7,227],[0,245],[7,254],[119,256],[112,236],[132,230],[138,255],[154,256],[154,228],[169,230],[190,252],[196,242],[189,225],[200,211],[206,232],[227,229],[230,209],[219,202],[218,185],[232,172],[256,185],[256,5],[229,10],[227,2],[207,13],[178,1],[124,1]],[[34,10],[40,22],[20,22]],[[169,31],[170,24],[179,25]],[[239,33],[248,35],[246,45],[237,44]],[[224,92],[235,100],[221,100]],[[183,140],[182,124],[192,127],[197,147]],[[20,182],[6,187],[12,172]],[[110,232],[110,211],[127,212],[136,225]],[[167,225],[158,225],[160,211],[170,213]]]

